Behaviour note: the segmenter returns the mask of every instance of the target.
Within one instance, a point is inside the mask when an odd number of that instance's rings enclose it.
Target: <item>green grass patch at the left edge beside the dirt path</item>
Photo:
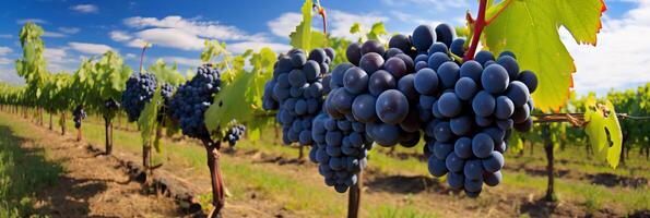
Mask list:
[[[52,185],[63,168],[47,160],[44,149],[21,148],[28,130],[10,121],[0,119],[0,217],[27,217],[35,192]]]

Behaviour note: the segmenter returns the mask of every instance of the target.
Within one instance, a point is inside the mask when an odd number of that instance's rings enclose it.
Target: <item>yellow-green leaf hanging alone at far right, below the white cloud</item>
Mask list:
[[[623,146],[623,133],[614,105],[607,100],[604,105],[590,95],[584,105],[584,132],[594,150],[606,157],[607,164],[616,169]],[[606,114],[606,116],[605,116]]]

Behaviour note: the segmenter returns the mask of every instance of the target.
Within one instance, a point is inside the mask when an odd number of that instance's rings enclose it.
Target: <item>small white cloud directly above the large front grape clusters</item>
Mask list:
[[[388,17],[380,15],[357,15],[338,10],[330,10],[328,12],[329,24],[331,27],[328,29],[334,37],[345,37],[348,39],[356,39],[358,36],[354,36],[350,33],[350,27],[354,23],[359,23],[365,28],[370,28],[373,24],[377,22],[386,22]]]

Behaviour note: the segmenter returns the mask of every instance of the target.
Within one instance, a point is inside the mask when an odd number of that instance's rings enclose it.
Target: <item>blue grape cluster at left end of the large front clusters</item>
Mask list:
[[[293,49],[277,58],[273,80],[264,87],[262,106],[264,110],[279,110],[275,119],[282,124],[284,144],[312,144],[311,123],[329,92],[326,74],[333,59],[331,48],[317,48],[309,55]]]

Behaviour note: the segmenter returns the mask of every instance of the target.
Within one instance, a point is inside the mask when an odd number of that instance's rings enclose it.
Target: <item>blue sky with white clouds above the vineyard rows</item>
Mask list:
[[[21,81],[15,75],[13,60],[21,56],[17,33],[26,21],[46,29],[46,58],[48,69],[54,72],[74,71],[82,58],[108,49],[119,51],[137,69],[138,47],[143,40],[154,44],[147,51],[149,62],[157,58],[176,61],[185,72],[199,63],[205,38],[226,41],[235,53],[263,46],[287,50],[287,35],[300,20],[302,3],[300,0],[4,1],[0,9],[0,80]],[[321,3],[328,10],[330,33],[351,39],[356,38],[347,33],[354,22],[369,27],[382,21],[391,33],[409,33],[418,24],[460,25],[464,11],[477,8],[475,0],[321,0]],[[640,40],[642,35],[627,33],[634,29],[650,34],[650,0],[606,3],[608,10],[596,48],[575,45],[568,34],[562,34],[569,51],[575,53],[576,89],[580,93],[602,93],[650,81],[647,68],[642,68],[650,61],[650,44]]]

